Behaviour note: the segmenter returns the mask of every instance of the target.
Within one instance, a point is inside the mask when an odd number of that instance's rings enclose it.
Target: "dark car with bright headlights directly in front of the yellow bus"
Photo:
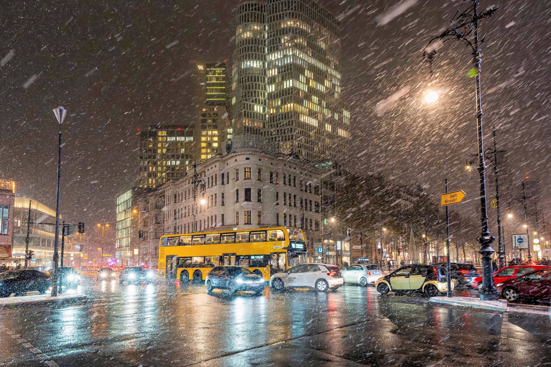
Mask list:
[[[244,266],[216,266],[207,274],[207,293],[214,288],[228,289],[231,294],[238,291],[253,291],[260,294],[264,289],[264,279]]]

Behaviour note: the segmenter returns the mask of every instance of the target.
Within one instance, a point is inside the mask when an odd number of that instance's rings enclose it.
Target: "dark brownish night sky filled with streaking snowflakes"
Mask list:
[[[55,208],[57,122],[64,106],[61,211],[69,220],[115,224],[115,198],[137,176],[137,128],[188,123],[193,116],[194,59],[233,54],[234,1],[12,1],[0,18],[0,177],[17,195]],[[474,80],[469,50],[445,46],[431,75],[423,48],[461,1],[410,0],[381,21],[394,1],[324,1],[342,18],[343,96],[353,114],[354,171],[419,183],[430,193],[463,189],[457,208],[478,214]],[[468,2],[466,2],[468,3]],[[499,7],[480,30],[484,129],[508,152],[507,182],[525,172],[549,200],[551,9],[545,1],[482,1]],[[379,17],[379,18],[378,18]],[[439,90],[428,106],[423,95]],[[387,108],[377,103],[400,97]],[[388,100],[387,100],[388,102]],[[493,176],[489,176],[493,180]],[[488,195],[493,197],[489,186]],[[508,195],[516,194],[511,189]],[[503,198],[509,200],[511,196]],[[490,221],[495,212],[490,210]],[[551,218],[548,215],[549,218]],[[114,228],[114,227],[113,227]],[[111,232],[114,239],[114,231]],[[114,242],[114,241],[113,241]]]

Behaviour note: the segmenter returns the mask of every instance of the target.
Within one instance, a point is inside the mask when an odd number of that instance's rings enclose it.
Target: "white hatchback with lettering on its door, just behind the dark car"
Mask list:
[[[336,290],[343,285],[343,278],[338,266],[310,263],[293,266],[276,273],[270,278],[270,286],[276,291],[285,288],[314,288],[326,292]]]

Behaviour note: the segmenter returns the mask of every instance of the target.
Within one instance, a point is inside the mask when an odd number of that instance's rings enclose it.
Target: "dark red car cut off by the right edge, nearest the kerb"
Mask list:
[[[520,298],[551,298],[551,267],[545,267],[497,284],[498,292],[509,302]]]

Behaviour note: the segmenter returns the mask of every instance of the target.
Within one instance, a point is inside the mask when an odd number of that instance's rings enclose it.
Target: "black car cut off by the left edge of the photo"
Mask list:
[[[23,294],[25,292],[50,291],[52,277],[38,270],[21,269],[8,270],[0,273],[0,298],[9,297],[10,294]]]

